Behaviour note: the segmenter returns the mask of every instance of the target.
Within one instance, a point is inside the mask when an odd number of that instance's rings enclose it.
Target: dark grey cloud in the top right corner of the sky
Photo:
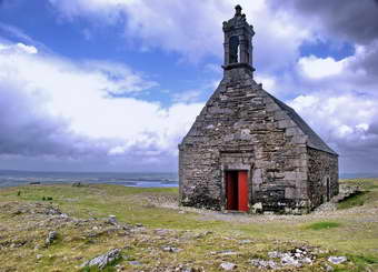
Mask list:
[[[302,18],[306,27],[320,36],[334,36],[368,44],[378,37],[378,2],[376,0],[288,0],[271,1],[271,7]]]

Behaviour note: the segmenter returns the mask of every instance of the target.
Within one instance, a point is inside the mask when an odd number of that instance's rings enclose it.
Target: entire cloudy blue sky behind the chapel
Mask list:
[[[256,81],[377,173],[378,0],[0,0],[0,169],[177,171],[238,3]]]

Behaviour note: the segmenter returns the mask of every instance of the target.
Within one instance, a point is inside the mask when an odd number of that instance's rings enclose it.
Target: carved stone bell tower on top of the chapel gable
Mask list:
[[[232,19],[223,22],[225,32],[225,72],[231,69],[243,68],[252,74],[252,38],[253,27],[248,24],[241,7],[235,7]]]

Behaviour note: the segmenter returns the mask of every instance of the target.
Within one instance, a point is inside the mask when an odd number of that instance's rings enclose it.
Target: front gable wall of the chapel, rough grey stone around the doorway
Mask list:
[[[248,170],[251,210],[259,203],[263,211],[307,211],[306,141],[250,70],[225,71],[179,145],[181,204],[225,209],[225,171]]]

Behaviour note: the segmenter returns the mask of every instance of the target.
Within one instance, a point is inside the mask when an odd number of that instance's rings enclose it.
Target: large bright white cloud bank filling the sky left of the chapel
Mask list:
[[[79,64],[21,43],[0,44],[0,127],[7,131],[1,160],[48,157],[102,161],[102,170],[172,169],[177,143],[202,107],[162,108],[128,97],[157,83],[120,63]]]

